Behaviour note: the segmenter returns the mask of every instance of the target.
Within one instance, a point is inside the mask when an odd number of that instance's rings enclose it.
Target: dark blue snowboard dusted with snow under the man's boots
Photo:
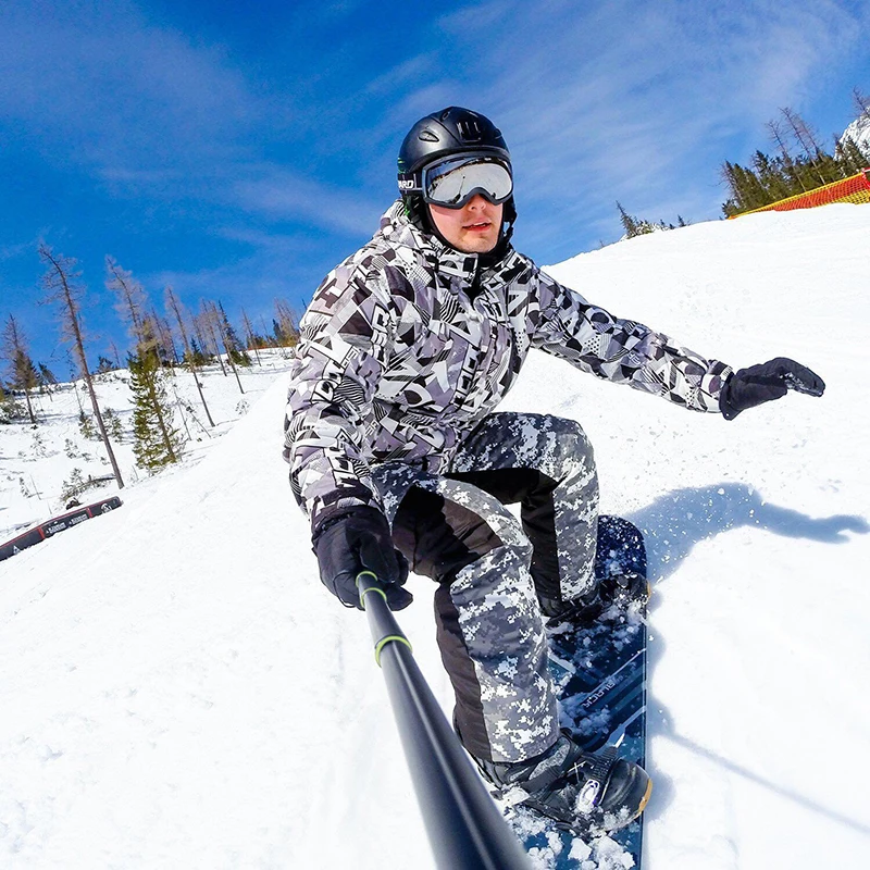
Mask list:
[[[602,515],[595,574],[600,579],[627,571],[647,575],[643,535],[627,520]],[[616,746],[621,757],[645,767],[646,606],[614,605],[587,627],[561,623],[548,627],[547,635],[561,726],[580,734],[584,749]],[[641,867],[643,816],[619,831],[583,836],[523,807],[508,810],[508,819],[536,868]]]

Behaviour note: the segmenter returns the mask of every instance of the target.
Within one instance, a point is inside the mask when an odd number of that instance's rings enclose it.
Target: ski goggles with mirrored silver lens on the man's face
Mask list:
[[[401,181],[399,187],[409,189]],[[510,199],[513,178],[510,164],[499,158],[459,154],[425,166],[420,187],[413,189],[423,194],[425,202],[447,209],[461,209],[476,194],[498,206]]]

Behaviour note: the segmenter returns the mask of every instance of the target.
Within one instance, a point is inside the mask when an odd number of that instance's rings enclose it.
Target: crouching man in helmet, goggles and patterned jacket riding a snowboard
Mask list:
[[[453,722],[484,775],[545,812],[570,804],[626,824],[649,778],[560,731],[545,620],[645,599],[646,582],[595,581],[598,483],[581,426],[495,408],[531,348],[728,420],[824,384],[783,358],[734,372],[542,272],[510,244],[510,154],[483,115],[421,119],[398,170],[399,199],[300,324],[284,456],[321,577],[360,607],[368,569],[394,610],[411,601],[409,567],[436,581]],[[521,522],[505,507],[515,502]]]

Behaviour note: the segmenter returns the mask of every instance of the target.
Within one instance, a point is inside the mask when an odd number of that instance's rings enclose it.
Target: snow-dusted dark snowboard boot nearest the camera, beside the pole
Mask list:
[[[549,749],[515,763],[475,759],[497,797],[524,806],[575,834],[613,831],[646,807],[652,782],[614,747],[586,753],[568,729]]]

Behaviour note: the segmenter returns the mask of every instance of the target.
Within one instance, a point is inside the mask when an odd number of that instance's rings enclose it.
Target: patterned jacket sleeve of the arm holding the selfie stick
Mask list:
[[[364,445],[394,327],[383,276],[353,264],[326,276],[300,323],[284,459],[312,532],[349,507],[381,507]]]

